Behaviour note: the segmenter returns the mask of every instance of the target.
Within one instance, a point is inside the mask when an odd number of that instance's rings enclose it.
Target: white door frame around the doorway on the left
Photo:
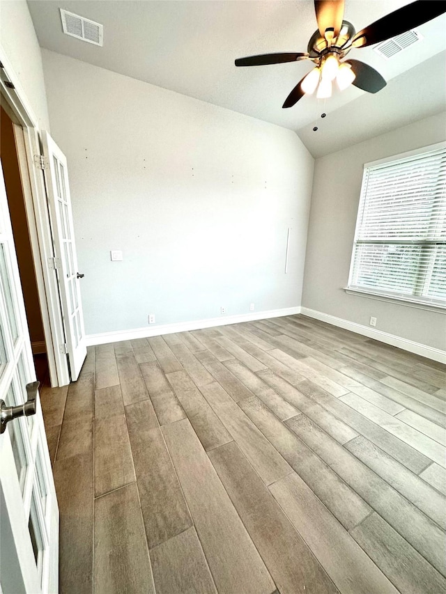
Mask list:
[[[55,253],[47,194],[43,171],[36,165],[34,158],[35,155],[41,155],[38,118],[1,44],[0,62],[0,93],[6,101],[4,107],[14,124],[17,159],[22,177],[31,251],[47,346],[49,379],[52,386],[66,386],[70,383],[70,370],[63,347],[66,340],[59,283],[54,269],[49,267],[49,263],[54,262]]]

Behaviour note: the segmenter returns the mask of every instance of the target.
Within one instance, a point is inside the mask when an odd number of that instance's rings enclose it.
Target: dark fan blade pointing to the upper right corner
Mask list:
[[[355,40],[364,38],[356,47],[367,47],[390,37],[405,33],[409,29],[420,26],[435,17],[446,13],[446,2],[443,0],[417,0],[407,6],[395,10],[390,15],[378,19],[374,23],[356,33]]]

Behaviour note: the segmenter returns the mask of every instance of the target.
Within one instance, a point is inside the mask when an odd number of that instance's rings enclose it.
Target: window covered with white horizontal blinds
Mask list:
[[[446,143],[364,165],[348,288],[446,306]]]

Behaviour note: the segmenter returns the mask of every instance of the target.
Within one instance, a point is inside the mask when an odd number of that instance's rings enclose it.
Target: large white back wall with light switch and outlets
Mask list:
[[[43,64],[87,334],[300,305],[314,159],[298,136],[47,50]]]

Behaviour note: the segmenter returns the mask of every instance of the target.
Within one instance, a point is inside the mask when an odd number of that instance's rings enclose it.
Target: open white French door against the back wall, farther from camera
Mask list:
[[[86,357],[84,318],[79,288],[75,233],[72,224],[67,160],[47,132],[43,132],[43,154],[47,158],[45,181],[51,217],[56,270],[61,290],[66,351],[72,382],[77,380]]]

